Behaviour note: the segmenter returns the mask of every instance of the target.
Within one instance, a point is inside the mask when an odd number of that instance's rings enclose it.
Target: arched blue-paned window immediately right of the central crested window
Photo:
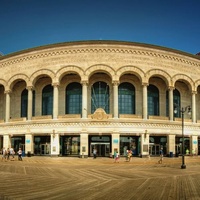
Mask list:
[[[118,88],[119,114],[135,114],[135,87],[121,83]]]

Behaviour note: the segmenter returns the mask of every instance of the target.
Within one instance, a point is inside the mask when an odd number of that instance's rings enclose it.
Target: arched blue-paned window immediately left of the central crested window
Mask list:
[[[66,114],[81,114],[82,86],[80,83],[70,83],[66,87]]]

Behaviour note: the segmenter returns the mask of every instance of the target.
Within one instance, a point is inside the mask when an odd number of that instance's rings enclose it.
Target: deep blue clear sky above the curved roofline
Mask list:
[[[119,40],[200,52],[200,0],[0,0],[0,52]]]

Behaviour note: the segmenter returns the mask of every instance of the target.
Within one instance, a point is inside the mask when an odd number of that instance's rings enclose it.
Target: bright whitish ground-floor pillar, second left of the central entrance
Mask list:
[[[60,154],[60,135],[53,130],[51,133],[51,156],[58,156]]]

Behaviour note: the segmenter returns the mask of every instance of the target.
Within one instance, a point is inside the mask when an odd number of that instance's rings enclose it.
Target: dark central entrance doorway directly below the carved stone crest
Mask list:
[[[107,157],[110,155],[110,143],[91,143],[90,145],[91,156],[94,148],[96,148],[97,150],[97,156]]]

